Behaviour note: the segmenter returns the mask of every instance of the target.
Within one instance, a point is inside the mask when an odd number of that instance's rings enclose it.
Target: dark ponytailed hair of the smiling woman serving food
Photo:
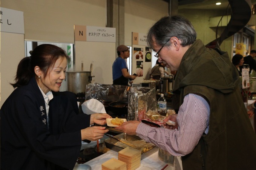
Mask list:
[[[37,79],[38,77],[34,72],[35,66],[38,66],[46,75],[60,57],[66,58],[67,62],[70,62],[69,56],[62,48],[51,44],[38,45],[30,57],[25,57],[20,61],[14,79],[15,83],[10,84],[15,88],[25,86],[33,76]]]

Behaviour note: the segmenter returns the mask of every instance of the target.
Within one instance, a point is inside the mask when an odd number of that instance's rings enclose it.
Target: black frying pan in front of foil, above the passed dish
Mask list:
[[[115,101],[109,103],[109,110],[117,115],[128,114],[128,102]]]

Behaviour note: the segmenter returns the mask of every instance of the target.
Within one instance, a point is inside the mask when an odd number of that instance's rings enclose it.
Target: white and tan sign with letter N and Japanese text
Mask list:
[[[115,28],[74,25],[75,41],[116,42]]]

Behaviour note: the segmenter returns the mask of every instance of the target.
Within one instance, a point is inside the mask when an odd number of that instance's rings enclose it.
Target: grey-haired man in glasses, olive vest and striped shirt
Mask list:
[[[147,43],[159,62],[177,71],[173,93],[180,94],[179,113],[164,119],[176,124],[155,128],[132,120],[115,129],[182,156],[183,170],[254,170],[256,135],[227,52],[206,48],[190,21],[175,15],[157,21]]]

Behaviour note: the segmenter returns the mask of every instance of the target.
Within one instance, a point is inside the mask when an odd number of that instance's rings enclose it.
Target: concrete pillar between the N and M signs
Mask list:
[[[124,0],[107,0],[106,27],[116,28],[116,48],[124,45]]]

